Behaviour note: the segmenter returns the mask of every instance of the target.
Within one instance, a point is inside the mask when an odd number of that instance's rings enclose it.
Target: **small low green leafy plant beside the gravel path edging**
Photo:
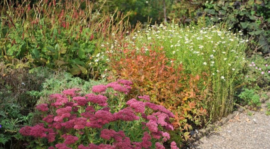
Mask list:
[[[244,91],[242,91],[238,97],[240,97],[240,99],[242,99],[245,104],[251,106],[252,108],[260,106],[260,96],[258,94],[255,93],[254,89],[247,89],[244,88]]]

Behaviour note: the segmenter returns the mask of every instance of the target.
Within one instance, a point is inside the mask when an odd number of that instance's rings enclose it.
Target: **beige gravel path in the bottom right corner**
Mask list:
[[[251,116],[245,111],[188,148],[270,149],[270,116],[265,111],[266,104],[258,112],[251,111]]]

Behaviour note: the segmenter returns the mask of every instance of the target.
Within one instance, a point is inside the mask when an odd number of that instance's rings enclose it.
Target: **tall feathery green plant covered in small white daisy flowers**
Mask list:
[[[233,107],[234,81],[245,62],[246,39],[223,27],[210,26],[196,29],[179,25],[154,25],[143,32],[136,32],[126,39],[134,48],[147,50],[163,47],[174,65],[183,66],[184,72],[196,76],[205,73],[208,84],[208,107],[210,120],[229,114]],[[131,45],[132,45],[131,44]]]

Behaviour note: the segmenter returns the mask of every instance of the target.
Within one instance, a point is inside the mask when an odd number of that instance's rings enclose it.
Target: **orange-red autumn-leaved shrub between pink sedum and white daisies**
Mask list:
[[[204,92],[197,85],[202,78],[185,74],[182,64],[175,66],[162,48],[136,50],[124,44],[119,49],[110,53],[114,76],[133,82],[134,97],[149,95],[152,102],[171,110],[175,115],[175,135],[187,140],[188,132],[193,126],[201,125],[202,116],[206,115],[201,105]]]

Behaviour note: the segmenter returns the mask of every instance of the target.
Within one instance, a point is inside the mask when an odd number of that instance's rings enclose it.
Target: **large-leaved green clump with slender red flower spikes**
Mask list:
[[[29,3],[1,2],[0,58],[6,63],[23,60],[31,67],[61,67],[72,75],[98,78],[106,69],[101,42],[132,32],[127,16],[101,12],[101,1]]]

